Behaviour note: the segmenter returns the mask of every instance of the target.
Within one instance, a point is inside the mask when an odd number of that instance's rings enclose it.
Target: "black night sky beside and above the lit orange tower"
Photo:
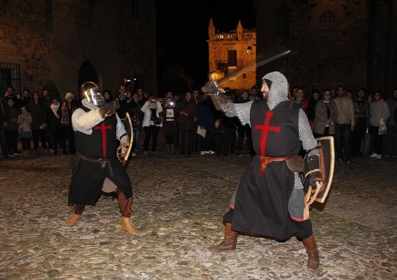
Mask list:
[[[223,2],[223,3],[222,3]],[[156,1],[157,72],[176,64],[188,70],[194,87],[208,80],[208,25],[210,18],[215,31],[255,28],[252,0],[228,6],[229,1]],[[208,4],[210,3],[210,4]]]

